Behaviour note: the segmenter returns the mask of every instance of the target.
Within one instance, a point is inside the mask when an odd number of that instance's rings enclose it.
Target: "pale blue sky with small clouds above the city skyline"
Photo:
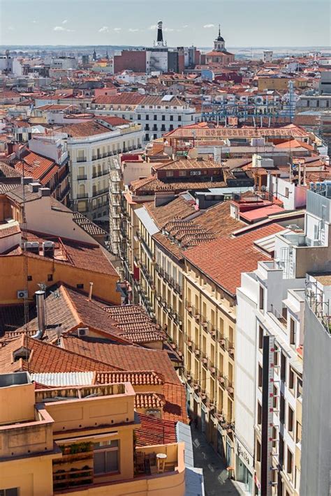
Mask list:
[[[328,46],[330,0],[0,0],[1,45]]]

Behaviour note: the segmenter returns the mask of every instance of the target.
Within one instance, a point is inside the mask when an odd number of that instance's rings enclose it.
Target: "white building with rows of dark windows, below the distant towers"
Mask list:
[[[135,108],[135,119],[141,123],[145,143],[171,130],[189,126],[197,118],[195,107],[174,95],[145,96]]]

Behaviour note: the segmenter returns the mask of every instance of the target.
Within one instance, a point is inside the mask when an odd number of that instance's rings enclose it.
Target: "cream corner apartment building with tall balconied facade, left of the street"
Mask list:
[[[107,117],[61,128],[66,133],[71,174],[71,208],[108,223],[110,157],[140,149],[139,124],[112,125]]]

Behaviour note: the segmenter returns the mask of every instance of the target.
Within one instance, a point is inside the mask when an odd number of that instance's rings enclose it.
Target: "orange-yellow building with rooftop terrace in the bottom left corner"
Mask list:
[[[29,373],[8,373],[0,398],[4,495],[184,496],[184,443],[136,446],[130,382],[36,389]]]

